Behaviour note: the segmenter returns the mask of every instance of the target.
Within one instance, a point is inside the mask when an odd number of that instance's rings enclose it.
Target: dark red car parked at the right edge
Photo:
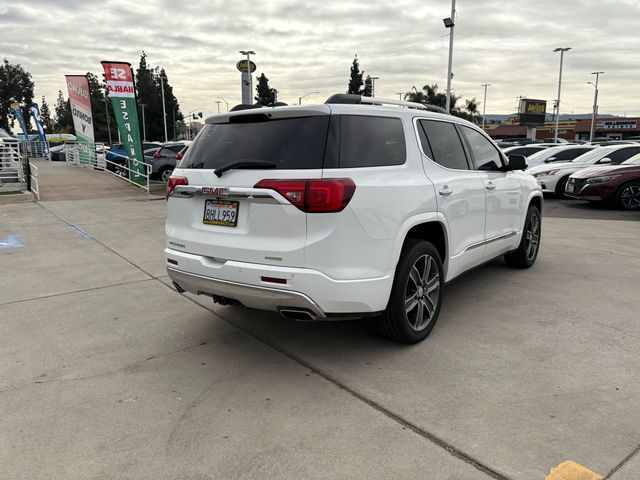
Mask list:
[[[625,210],[640,210],[640,155],[620,165],[579,170],[569,177],[565,194]]]

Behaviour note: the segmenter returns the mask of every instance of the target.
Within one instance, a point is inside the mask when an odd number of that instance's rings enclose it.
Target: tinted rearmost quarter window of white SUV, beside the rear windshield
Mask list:
[[[402,165],[407,157],[399,118],[342,115],[340,167]]]

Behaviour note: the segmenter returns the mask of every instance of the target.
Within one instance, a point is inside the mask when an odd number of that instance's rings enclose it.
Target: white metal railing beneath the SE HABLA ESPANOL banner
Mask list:
[[[117,158],[118,161],[109,160],[107,159],[107,149],[102,143],[67,143],[64,149],[67,163],[93,167],[94,170],[111,174],[149,193],[150,164],[139,161],[137,165],[142,165],[144,170],[141,172],[135,165],[132,165],[133,160],[125,155],[109,152],[109,156]]]

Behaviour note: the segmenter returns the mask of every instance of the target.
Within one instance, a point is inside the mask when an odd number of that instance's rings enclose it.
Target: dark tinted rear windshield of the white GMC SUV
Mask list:
[[[321,169],[328,128],[328,115],[270,120],[261,115],[257,121],[207,124],[180,168],[216,169],[230,162],[260,160],[279,169]]]

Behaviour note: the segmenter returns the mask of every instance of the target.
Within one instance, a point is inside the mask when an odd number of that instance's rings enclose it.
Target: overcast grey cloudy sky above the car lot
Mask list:
[[[0,57],[33,75],[36,99],[67,96],[64,75],[101,73],[101,60],[137,65],[145,50],[164,67],[184,113],[240,102],[238,50],[252,49],[278,99],[321,103],[347,88],[357,53],[380,77],[376,96],[413,85],[446,87],[450,0],[13,0],[0,5]],[[562,113],[589,113],[590,72],[601,70],[600,112],[640,115],[640,0],[458,0],[453,86],[487,113],[511,113],[516,97],[557,94]],[[224,108],[224,104],[222,105]]]

